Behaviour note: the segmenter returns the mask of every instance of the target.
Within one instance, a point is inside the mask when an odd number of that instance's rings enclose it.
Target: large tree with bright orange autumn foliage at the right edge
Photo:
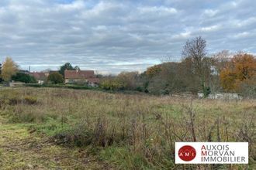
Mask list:
[[[256,58],[247,53],[235,55],[220,72],[223,89],[231,92],[240,92],[244,84],[256,87],[255,77]]]

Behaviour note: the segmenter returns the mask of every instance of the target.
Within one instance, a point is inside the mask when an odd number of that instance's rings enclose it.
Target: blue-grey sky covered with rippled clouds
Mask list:
[[[179,61],[196,36],[209,54],[256,53],[256,1],[0,1],[0,59],[32,71],[70,62],[100,73],[141,72],[165,58]]]

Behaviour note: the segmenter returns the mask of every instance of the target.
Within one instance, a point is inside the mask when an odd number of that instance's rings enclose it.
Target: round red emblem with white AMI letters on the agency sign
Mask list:
[[[182,146],[178,150],[178,157],[181,158],[185,162],[190,162],[195,158],[196,151],[195,148],[193,148],[190,145]]]

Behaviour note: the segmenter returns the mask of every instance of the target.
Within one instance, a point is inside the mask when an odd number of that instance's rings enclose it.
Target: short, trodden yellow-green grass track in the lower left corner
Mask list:
[[[107,169],[78,148],[64,148],[30,134],[28,124],[0,116],[0,169]]]

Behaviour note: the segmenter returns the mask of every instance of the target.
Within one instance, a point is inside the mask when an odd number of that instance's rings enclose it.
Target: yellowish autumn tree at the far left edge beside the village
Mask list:
[[[5,62],[2,64],[2,79],[5,81],[11,80],[13,75],[16,75],[18,65],[12,60],[11,57],[6,57]]]

